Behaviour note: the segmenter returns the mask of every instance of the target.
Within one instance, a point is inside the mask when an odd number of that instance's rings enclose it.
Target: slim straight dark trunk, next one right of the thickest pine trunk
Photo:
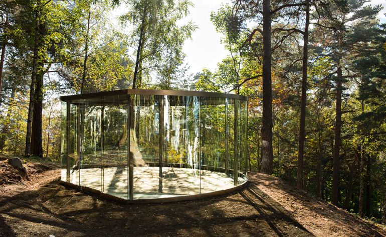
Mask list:
[[[310,24],[310,6],[306,3],[306,22],[303,35],[303,68],[302,68],[302,95],[300,99],[300,128],[298,147],[298,172],[297,187],[303,189],[303,161],[306,123],[306,99],[307,99],[307,62],[308,62],[308,25]]]

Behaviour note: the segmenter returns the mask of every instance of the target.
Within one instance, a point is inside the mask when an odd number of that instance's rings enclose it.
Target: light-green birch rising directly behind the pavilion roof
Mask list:
[[[141,88],[143,77],[148,76],[152,68],[162,72],[160,62],[172,60],[171,65],[180,65],[184,56],[181,52],[183,42],[196,27],[191,22],[183,26],[176,24],[192,6],[187,0],[130,0],[128,5],[130,9],[121,21],[133,25],[129,44],[136,48],[134,89]]]

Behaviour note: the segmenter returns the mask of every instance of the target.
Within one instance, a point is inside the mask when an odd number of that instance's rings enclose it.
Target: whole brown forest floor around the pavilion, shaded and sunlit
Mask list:
[[[125,205],[60,185],[54,165],[26,166],[29,180],[0,161],[0,236],[386,236],[263,174],[251,173],[246,188],[223,196]]]

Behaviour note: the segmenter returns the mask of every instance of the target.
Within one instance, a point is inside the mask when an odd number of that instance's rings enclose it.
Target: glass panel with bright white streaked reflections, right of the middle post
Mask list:
[[[162,196],[200,193],[200,98],[163,96]]]

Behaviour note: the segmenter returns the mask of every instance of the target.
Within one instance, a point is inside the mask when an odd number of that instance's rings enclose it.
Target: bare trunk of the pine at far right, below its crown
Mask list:
[[[334,143],[334,154],[332,160],[332,189],[331,199],[332,204],[339,204],[339,170],[340,170],[340,128],[342,118],[342,67],[340,66],[340,58],[338,59],[337,69],[337,83],[336,83],[336,118],[335,118],[335,143]]]

